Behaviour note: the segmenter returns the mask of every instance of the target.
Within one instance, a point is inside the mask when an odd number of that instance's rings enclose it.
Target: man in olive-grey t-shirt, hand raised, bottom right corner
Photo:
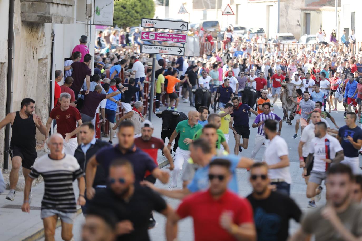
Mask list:
[[[351,198],[351,168],[333,164],[327,178],[327,205],[308,213],[290,241],[306,240],[309,235],[318,241],[361,240],[362,207]]]

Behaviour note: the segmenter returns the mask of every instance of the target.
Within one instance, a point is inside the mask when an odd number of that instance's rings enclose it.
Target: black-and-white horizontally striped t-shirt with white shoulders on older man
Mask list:
[[[45,186],[42,209],[77,211],[73,181],[82,177],[83,171],[74,156],[64,155],[60,160],[42,156],[35,160],[29,177],[35,179],[39,175],[43,176]]]

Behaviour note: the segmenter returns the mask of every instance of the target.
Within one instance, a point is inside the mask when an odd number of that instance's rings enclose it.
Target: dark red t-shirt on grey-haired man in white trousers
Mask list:
[[[66,111],[62,111],[60,107],[51,110],[49,117],[56,120],[56,132],[66,138],[67,133],[71,133],[77,128],[77,121],[82,119],[77,108],[69,106]],[[77,137],[73,135],[71,138]]]

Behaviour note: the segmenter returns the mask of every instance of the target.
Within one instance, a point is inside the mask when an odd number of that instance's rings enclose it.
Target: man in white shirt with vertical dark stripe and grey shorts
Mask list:
[[[320,185],[322,181],[327,178],[327,171],[330,168],[330,164],[332,162],[333,165],[340,163],[344,155],[339,141],[327,134],[327,125],[324,122],[315,124],[314,133],[315,137],[310,143],[304,173],[307,173],[307,169],[313,159],[313,168],[307,185],[307,198],[315,197],[315,201],[318,202],[323,190]]]

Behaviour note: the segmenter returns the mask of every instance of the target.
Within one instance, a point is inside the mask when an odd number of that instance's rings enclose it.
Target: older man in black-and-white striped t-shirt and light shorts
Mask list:
[[[71,240],[73,237],[73,220],[77,212],[76,205],[85,205],[83,171],[74,156],[63,153],[63,143],[62,135],[59,133],[52,134],[48,140],[50,154],[35,160],[33,170],[31,170],[29,178],[25,181],[24,204],[21,207],[23,212],[30,212],[29,191],[35,178],[42,175],[46,187],[61,187],[61,189],[50,188],[44,191],[40,217],[44,223],[45,240],[54,240],[58,217],[62,222],[63,240]],[[56,179],[54,179],[54,176],[56,176]],[[77,203],[73,183],[64,183],[64,180],[74,180],[75,178],[78,180],[79,186]]]

